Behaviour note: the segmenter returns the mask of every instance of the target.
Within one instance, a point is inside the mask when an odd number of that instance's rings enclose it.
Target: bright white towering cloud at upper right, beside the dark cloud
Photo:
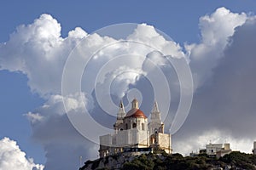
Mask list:
[[[247,19],[247,14],[232,13],[227,8],[218,8],[214,13],[201,17],[199,23],[201,43],[185,45],[187,54],[189,54],[195,88],[200,88],[212,77],[212,69],[224,56],[224,48],[229,42],[229,37]]]

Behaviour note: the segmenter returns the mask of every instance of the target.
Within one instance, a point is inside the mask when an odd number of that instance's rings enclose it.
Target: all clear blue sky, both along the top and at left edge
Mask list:
[[[201,42],[199,19],[212,14],[217,8],[232,13],[255,15],[253,0],[235,1],[2,1],[0,3],[0,43],[8,42],[17,26],[32,24],[41,14],[50,14],[61,24],[61,37],[75,27],[87,33],[104,26],[119,23],[147,23],[183,47],[184,43]],[[1,51],[0,51],[1,53]],[[1,60],[0,60],[1,61]],[[0,63],[1,65],[1,63]],[[1,67],[0,67],[1,68]],[[43,146],[32,139],[32,127],[26,119],[47,99],[32,92],[28,78],[21,72],[0,70],[0,139],[9,137],[17,141],[21,150],[36,163],[44,164]]]

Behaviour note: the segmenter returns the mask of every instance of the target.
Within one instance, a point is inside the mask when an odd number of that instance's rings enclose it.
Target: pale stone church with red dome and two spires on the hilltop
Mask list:
[[[132,100],[131,110],[127,113],[120,102],[113,133],[100,136],[100,157],[122,153],[127,149],[139,152],[154,148],[172,153],[171,134],[164,133],[157,102],[154,102],[149,122],[139,109],[137,99]]]

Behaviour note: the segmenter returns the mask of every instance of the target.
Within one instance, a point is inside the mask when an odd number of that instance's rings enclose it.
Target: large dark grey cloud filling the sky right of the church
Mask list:
[[[256,139],[255,44],[256,20],[247,20],[230,37],[224,57],[212,70],[212,78],[197,89],[187,121],[173,137],[177,143],[188,138],[199,140],[202,133],[217,130],[220,136],[206,137],[207,142],[211,138],[225,142],[231,137],[227,142],[231,146],[233,142],[233,148],[236,140],[247,140],[249,143],[237,149],[251,150]]]

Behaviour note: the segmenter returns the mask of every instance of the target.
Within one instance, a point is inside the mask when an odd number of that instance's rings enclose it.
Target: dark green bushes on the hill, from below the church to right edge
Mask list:
[[[256,156],[241,152],[231,152],[219,159],[199,155],[195,157],[180,154],[157,156],[149,154],[142,155],[131,162],[125,162],[123,169],[214,169],[218,167],[227,169],[256,169]],[[221,168],[219,168],[221,169]]]

